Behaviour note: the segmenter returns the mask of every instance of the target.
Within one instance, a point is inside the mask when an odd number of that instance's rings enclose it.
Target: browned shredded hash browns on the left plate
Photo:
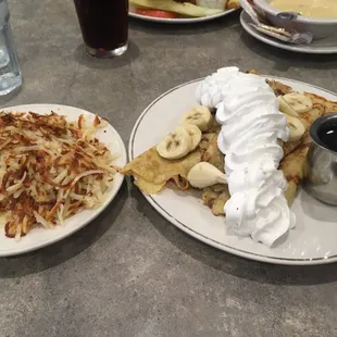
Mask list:
[[[105,121],[75,123],[49,115],[0,112],[0,215],[5,235],[20,239],[41,225],[52,228],[82,209],[100,205],[116,168],[95,138]]]

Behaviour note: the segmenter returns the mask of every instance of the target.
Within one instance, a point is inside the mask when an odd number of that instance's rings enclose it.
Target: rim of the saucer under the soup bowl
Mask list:
[[[309,54],[333,54],[337,53],[337,42],[336,47],[324,47],[324,46],[305,46],[301,47],[300,45],[287,45],[285,42],[278,41],[272,37],[269,37],[267,35],[263,35],[262,33],[257,32],[253,27],[250,26],[250,17],[247,14],[247,12],[242,11],[240,14],[240,23],[246,33],[254,37],[255,39],[260,40],[261,42],[264,42],[266,45],[285,49],[294,52],[303,52]],[[292,80],[292,79],[291,79]]]

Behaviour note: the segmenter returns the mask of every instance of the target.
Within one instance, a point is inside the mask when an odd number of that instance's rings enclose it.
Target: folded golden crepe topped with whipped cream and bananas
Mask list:
[[[212,212],[226,216],[230,233],[271,247],[295,225],[289,205],[303,179],[309,128],[337,111],[337,103],[236,67],[208,76],[196,96],[201,107],[185,113],[178,128],[186,116],[198,121],[198,111],[210,111],[198,147],[174,160],[154,147],[122,173],[133,175],[145,194],[160,192],[168,183],[201,189]]]

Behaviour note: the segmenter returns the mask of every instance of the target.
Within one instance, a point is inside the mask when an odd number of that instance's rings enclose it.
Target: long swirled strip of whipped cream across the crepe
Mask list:
[[[284,155],[279,140],[289,138],[277,98],[263,77],[237,67],[208,76],[196,96],[200,104],[216,108],[222,125],[217,146],[226,154],[228,230],[271,247],[296,222],[284,195],[287,182],[277,170]]]

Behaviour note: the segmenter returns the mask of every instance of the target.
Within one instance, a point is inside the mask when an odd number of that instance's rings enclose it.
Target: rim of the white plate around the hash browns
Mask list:
[[[18,111],[18,110],[23,110],[23,109],[28,110],[29,107],[32,107],[30,108],[32,110],[34,109],[33,107],[37,107],[37,108],[45,108],[46,107],[46,109],[51,109],[51,110],[55,110],[55,109],[72,109],[72,110],[74,110],[75,109],[75,110],[82,111],[83,113],[95,115],[92,112],[89,112],[85,109],[71,107],[71,105],[52,104],[52,103],[21,104],[21,105],[14,105],[14,107],[4,107],[1,109],[1,111],[7,111],[7,110],[17,110]],[[48,107],[50,107],[50,108],[48,108]],[[109,123],[109,127],[111,128],[111,132],[113,134],[113,137],[114,137],[113,139],[117,142],[117,145],[121,149],[121,155],[118,157],[118,159],[122,161],[122,165],[125,165],[127,163],[127,153],[126,153],[126,148],[125,148],[125,145],[123,142],[123,139],[120,136],[120,134],[117,133],[117,130],[110,123]],[[78,232],[79,229],[84,228],[86,225],[91,223],[97,216],[99,216],[109,207],[109,204],[113,201],[113,199],[116,197],[117,192],[120,191],[122,184],[124,182],[124,178],[125,177],[122,174],[117,174],[115,176],[115,179],[114,179],[115,185],[113,186],[112,190],[110,191],[108,199],[104,201],[104,203],[99,209],[97,209],[96,212],[90,214],[90,216],[88,219],[86,219],[84,222],[82,222],[79,226],[73,228],[72,230],[65,233],[64,235],[60,235],[58,237],[47,239],[46,241],[33,245],[33,246],[28,246],[25,248],[20,248],[17,246],[17,248],[13,248],[13,249],[9,249],[9,250],[0,250],[0,258],[21,255],[21,254],[24,254],[24,253],[27,253],[30,251],[41,249],[43,247],[47,247],[47,246],[53,245],[58,241],[61,241],[61,240],[65,239],[66,237],[72,236],[74,233]],[[77,214],[80,214],[80,213],[77,213]],[[17,244],[20,245],[20,242],[17,242]]]

